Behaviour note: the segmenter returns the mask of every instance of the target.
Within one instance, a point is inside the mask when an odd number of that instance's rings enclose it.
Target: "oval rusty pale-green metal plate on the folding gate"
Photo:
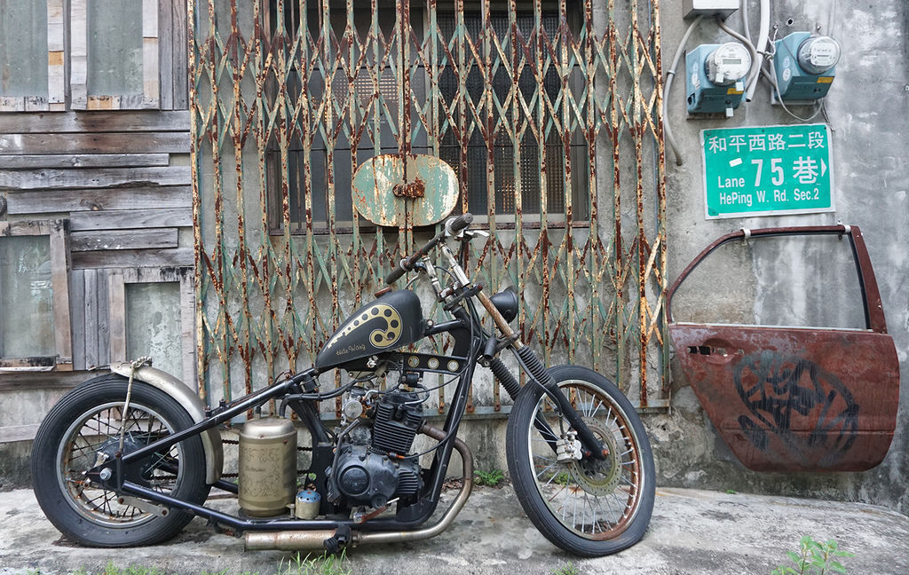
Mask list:
[[[450,165],[425,154],[383,154],[356,169],[356,211],[377,225],[430,225],[457,204],[457,176]]]

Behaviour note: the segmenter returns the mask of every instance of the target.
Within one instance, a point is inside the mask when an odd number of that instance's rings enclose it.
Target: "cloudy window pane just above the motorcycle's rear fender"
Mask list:
[[[147,355],[154,366],[182,377],[180,284],[126,283],[126,357]]]

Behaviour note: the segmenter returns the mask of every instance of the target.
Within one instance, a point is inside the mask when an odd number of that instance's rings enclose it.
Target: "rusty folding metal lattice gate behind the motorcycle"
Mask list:
[[[456,209],[490,232],[471,272],[521,293],[525,341],[665,404],[658,0],[189,6],[209,401],[308,366],[430,232],[377,228],[351,200],[358,164],[412,153],[454,167]],[[499,410],[488,388],[471,409]]]

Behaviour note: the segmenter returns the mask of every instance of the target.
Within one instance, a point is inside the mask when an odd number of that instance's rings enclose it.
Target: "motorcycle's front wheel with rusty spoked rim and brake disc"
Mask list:
[[[609,555],[644,537],[654,509],[654,457],[634,406],[599,373],[576,365],[549,370],[594,432],[605,461],[556,453],[574,441],[555,402],[529,383],[508,421],[508,471],[518,501],[544,537],[583,557]]]

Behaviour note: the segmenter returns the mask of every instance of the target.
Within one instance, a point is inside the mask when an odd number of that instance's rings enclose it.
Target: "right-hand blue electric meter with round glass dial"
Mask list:
[[[840,45],[830,36],[794,32],[775,43],[774,70],[779,98],[810,104],[823,98],[834,82]]]

